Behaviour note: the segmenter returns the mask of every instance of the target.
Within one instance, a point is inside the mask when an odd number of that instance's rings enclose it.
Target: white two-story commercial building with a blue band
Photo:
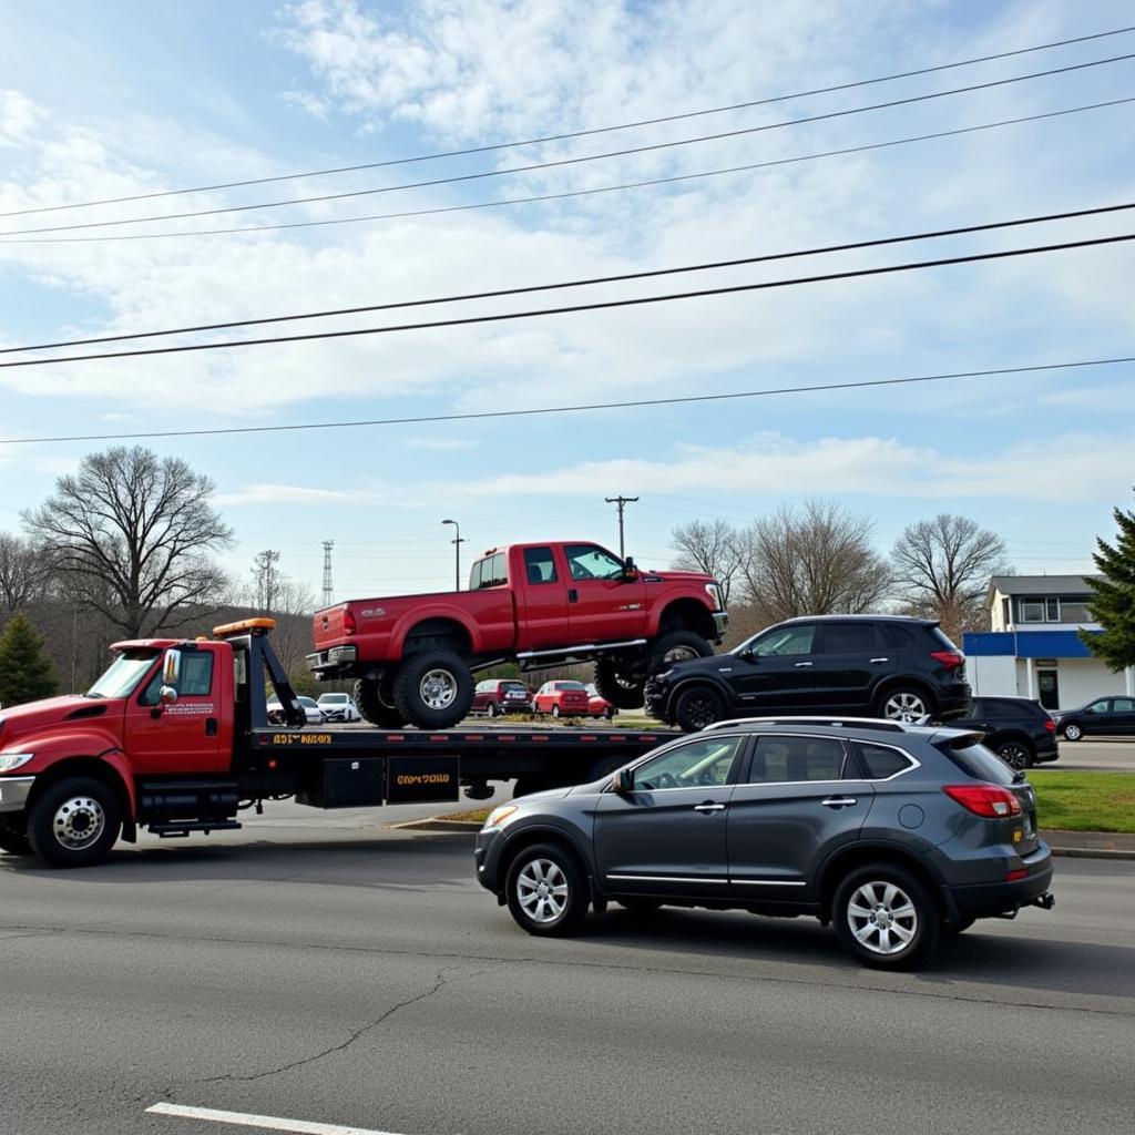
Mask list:
[[[1108,693],[1135,695],[1135,667],[1123,673],[1096,658],[1079,632],[1100,630],[1084,575],[994,575],[987,633],[964,637],[976,695],[1036,698],[1068,709]]]

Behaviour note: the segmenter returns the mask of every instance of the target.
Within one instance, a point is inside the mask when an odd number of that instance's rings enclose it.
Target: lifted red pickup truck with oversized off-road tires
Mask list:
[[[469,712],[477,670],[595,659],[599,692],[642,704],[647,678],[705,657],[728,616],[711,575],[640,571],[597,544],[514,544],[473,563],[469,590],[354,599],[318,611],[308,666],[354,678],[362,716],[384,729],[447,729]]]

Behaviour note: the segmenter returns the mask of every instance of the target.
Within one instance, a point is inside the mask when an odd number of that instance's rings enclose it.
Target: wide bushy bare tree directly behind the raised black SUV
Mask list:
[[[869,519],[825,501],[754,521],[735,545],[745,600],[766,623],[877,607],[890,572],[872,548],[872,528]]]

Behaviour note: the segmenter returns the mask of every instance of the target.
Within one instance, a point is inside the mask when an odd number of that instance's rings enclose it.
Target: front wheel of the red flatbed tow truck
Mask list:
[[[121,826],[114,791],[84,776],[53,784],[35,801],[27,836],[51,867],[90,867],[107,858]]]

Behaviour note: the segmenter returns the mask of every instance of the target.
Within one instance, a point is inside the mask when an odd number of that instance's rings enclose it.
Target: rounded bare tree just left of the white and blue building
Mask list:
[[[1001,537],[947,512],[908,524],[891,552],[891,566],[907,609],[938,619],[950,638],[989,627],[990,577],[1012,573]]]

